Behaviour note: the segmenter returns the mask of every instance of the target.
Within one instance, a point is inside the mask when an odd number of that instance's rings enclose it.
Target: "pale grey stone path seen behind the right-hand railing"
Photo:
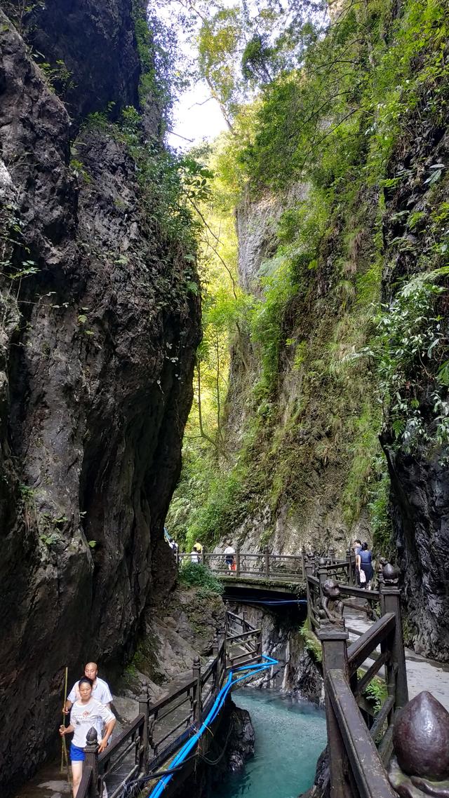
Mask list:
[[[372,625],[372,622],[365,619],[364,614],[356,610],[344,610],[344,618],[349,630],[349,639],[352,641],[360,636],[353,633],[352,629],[363,633]],[[407,648],[405,658],[409,697],[415,697],[421,690],[428,690],[449,711],[449,666],[420,657],[415,651]]]

